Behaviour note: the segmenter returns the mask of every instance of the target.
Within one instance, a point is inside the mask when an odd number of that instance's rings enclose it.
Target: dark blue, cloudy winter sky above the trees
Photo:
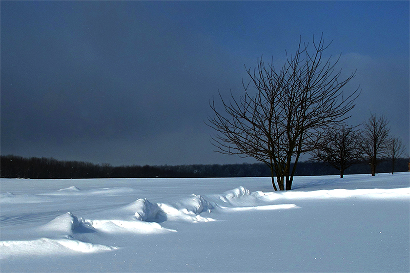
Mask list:
[[[341,54],[349,125],[389,120],[409,148],[409,1],[1,1],[1,155],[120,165],[230,164],[205,125],[312,36]],[[407,152],[407,154],[409,154]]]

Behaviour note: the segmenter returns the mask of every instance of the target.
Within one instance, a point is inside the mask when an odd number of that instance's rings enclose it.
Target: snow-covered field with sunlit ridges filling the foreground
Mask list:
[[[1,179],[2,272],[409,272],[409,173]]]

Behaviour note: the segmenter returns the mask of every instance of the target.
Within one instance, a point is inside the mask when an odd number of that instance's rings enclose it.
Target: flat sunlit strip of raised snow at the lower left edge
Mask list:
[[[14,256],[73,255],[116,250],[118,247],[92,244],[69,239],[41,238],[31,241],[1,241],[1,259]]]

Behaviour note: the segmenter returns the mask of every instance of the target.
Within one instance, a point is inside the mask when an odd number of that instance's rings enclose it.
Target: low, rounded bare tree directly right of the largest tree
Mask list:
[[[340,170],[343,178],[344,170],[361,158],[359,134],[359,130],[344,124],[325,130],[310,160],[328,163]]]

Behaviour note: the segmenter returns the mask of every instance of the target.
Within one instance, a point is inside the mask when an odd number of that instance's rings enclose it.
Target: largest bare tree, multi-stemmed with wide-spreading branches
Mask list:
[[[291,189],[300,155],[311,151],[320,132],[348,118],[354,107],[358,89],[344,96],[342,88],[355,73],[340,79],[341,71],[335,73],[340,57],[333,64],[331,56],[324,59],[327,48],[322,36],[319,42],[313,38],[312,52],[300,41],[279,70],[273,59],[265,65],[261,58],[253,72],[247,69],[251,80],[243,83],[244,96],[235,99],[231,92],[227,102],[219,94],[224,112],[214,100],[210,103],[214,116],[208,117],[208,125],[217,131],[212,137],[217,151],[264,162],[275,190]]]

